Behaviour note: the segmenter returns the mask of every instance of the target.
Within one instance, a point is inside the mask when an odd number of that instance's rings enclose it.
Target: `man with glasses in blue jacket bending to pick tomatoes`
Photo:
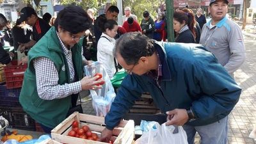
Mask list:
[[[111,109],[101,141],[140,99],[150,92],[154,104],[168,115],[166,125],[183,125],[188,143],[195,133],[202,144],[226,144],[228,114],[241,88],[202,45],[155,42],[141,33],[127,33],[115,45],[114,56],[127,71]]]

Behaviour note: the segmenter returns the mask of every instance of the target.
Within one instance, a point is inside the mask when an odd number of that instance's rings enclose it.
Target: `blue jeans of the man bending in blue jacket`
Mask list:
[[[188,136],[188,144],[193,144],[195,141],[195,134],[201,137],[201,144],[226,144],[228,133],[228,116],[222,118],[219,122],[214,122],[209,125],[191,126],[183,125],[183,129]]]

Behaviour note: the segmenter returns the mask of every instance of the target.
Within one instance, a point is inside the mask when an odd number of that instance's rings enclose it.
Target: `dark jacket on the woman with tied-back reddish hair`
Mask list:
[[[186,31],[179,33],[176,36],[174,42],[195,43],[195,38],[193,33],[189,29],[187,29]]]

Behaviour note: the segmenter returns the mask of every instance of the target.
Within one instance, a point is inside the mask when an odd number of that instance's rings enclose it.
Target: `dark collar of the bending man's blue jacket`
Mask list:
[[[172,76],[171,76],[169,65],[166,60],[167,55],[166,55],[166,51],[164,48],[164,42],[154,41],[154,44],[156,47],[156,51],[159,54],[160,61],[162,63],[162,73],[163,73],[162,80],[163,81],[171,81]]]

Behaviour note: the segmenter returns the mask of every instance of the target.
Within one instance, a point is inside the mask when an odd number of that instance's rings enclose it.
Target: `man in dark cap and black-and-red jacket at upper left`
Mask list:
[[[47,33],[51,28],[49,23],[37,16],[35,10],[29,6],[22,8],[20,10],[20,20],[26,22],[29,26],[33,27],[32,37],[33,39],[25,44],[19,45],[19,51],[24,52],[26,49],[30,49],[33,45],[38,42],[42,36]]]

